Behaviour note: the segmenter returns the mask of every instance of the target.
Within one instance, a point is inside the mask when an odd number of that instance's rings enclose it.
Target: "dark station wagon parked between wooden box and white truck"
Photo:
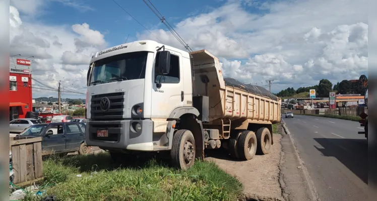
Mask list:
[[[85,141],[85,124],[79,122],[36,124],[30,126],[14,139],[42,137],[42,153],[89,153]]]

